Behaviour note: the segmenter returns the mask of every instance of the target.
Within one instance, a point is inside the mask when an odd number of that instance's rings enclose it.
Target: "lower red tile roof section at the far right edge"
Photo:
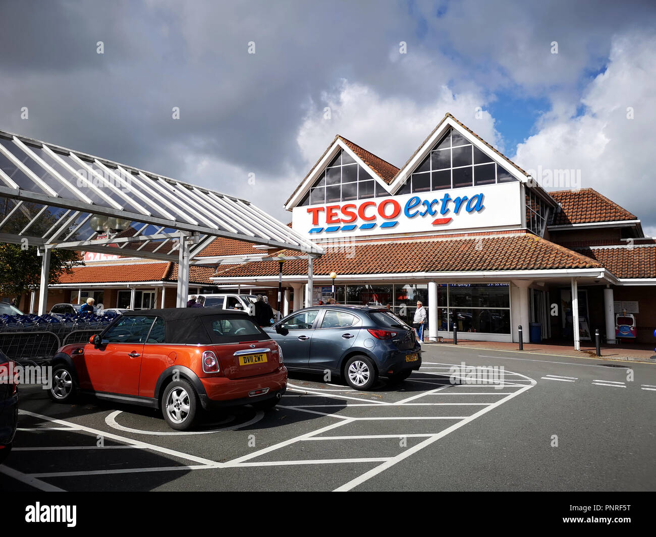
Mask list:
[[[618,278],[656,278],[656,245],[577,250]]]

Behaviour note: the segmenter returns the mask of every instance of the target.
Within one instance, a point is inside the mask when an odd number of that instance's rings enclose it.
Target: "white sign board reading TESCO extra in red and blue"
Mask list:
[[[493,228],[522,222],[519,183],[295,207],[292,214],[293,229],[315,237]]]

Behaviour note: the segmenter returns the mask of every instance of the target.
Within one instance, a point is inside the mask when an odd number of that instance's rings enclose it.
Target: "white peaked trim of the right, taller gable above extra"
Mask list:
[[[530,178],[529,174],[525,172],[522,168],[516,165],[511,161],[506,155],[501,153],[498,149],[493,148],[490,144],[485,142],[483,138],[478,136],[476,132],[465,127],[460,121],[455,119],[451,113],[446,113],[443,119],[438,123],[437,127],[432,130],[428,137],[421,143],[417,151],[407,160],[407,162],[401,167],[399,172],[396,174],[396,177],[390,184],[390,192],[395,193],[403,184],[405,184],[407,178],[413,172],[413,170],[419,165],[426,155],[430,152],[432,148],[440,141],[442,136],[449,130],[449,128],[454,129],[459,132],[464,138],[470,140],[474,147],[480,149],[488,157],[499,163],[504,169],[508,170],[512,176],[514,176],[518,181],[526,184]],[[539,187],[539,189],[542,189]],[[545,195],[545,197],[548,197]]]

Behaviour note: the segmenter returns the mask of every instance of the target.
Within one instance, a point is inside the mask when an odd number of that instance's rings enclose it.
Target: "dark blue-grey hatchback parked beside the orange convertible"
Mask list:
[[[415,330],[379,306],[313,306],[264,328],[289,370],[338,374],[367,390],[379,376],[401,382],[421,367]]]

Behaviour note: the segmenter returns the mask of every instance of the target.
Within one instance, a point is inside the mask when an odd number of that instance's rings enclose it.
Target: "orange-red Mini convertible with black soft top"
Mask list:
[[[173,429],[194,425],[199,408],[274,407],[287,388],[279,345],[247,313],[214,308],[132,311],[85,345],[52,359],[53,401],[79,392],[159,408]]]

